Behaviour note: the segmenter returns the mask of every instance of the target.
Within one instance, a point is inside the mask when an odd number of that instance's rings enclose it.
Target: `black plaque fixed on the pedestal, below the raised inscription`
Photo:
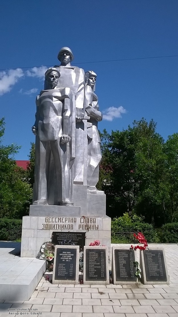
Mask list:
[[[83,247],[85,245],[85,232],[54,231],[52,232],[52,243],[79,245],[79,250],[83,251]]]

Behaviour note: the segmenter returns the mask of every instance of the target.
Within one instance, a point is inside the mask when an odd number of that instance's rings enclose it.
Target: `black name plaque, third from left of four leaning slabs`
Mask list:
[[[137,281],[134,250],[115,249],[116,281]]]

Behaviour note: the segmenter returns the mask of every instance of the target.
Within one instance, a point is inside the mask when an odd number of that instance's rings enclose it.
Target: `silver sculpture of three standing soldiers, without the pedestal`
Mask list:
[[[73,184],[87,184],[89,195],[103,194],[96,189],[101,161],[97,123],[102,120],[97,75],[71,65],[73,59],[68,47],[59,51],[61,64],[46,71],[44,90],[36,98],[33,204],[73,205]]]

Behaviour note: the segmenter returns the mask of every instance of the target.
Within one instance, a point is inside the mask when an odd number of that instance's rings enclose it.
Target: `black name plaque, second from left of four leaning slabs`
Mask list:
[[[106,250],[86,249],[86,281],[106,281]]]

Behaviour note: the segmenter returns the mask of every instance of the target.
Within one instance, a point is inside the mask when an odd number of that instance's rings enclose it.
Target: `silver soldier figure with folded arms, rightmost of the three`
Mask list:
[[[94,93],[97,75],[93,71],[85,73],[85,98],[87,112],[90,119],[87,123],[88,137],[88,165],[87,165],[87,187],[88,194],[103,194],[103,191],[96,189],[99,180],[99,164],[101,162],[100,136],[97,130],[98,121],[102,120],[102,113],[99,111],[98,97]]]

